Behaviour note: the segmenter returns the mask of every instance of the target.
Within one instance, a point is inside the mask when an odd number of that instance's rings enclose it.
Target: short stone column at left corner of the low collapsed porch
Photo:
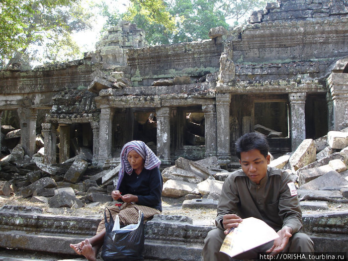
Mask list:
[[[51,123],[42,123],[42,133],[45,144],[45,164],[55,164],[57,162],[57,130]]]

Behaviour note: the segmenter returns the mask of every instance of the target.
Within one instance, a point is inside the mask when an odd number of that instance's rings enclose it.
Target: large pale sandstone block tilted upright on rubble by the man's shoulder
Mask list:
[[[316,147],[312,139],[306,139],[301,142],[296,151],[291,155],[289,162],[291,168],[295,171],[304,166],[315,162]]]

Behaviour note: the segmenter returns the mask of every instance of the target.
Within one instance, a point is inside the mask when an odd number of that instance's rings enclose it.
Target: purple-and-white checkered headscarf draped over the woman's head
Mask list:
[[[121,169],[118,174],[118,181],[116,189],[121,185],[124,173],[132,174],[132,167],[128,162],[128,153],[131,150],[135,150],[144,160],[144,168],[147,170],[152,170],[161,165],[161,160],[155,155],[155,153],[142,141],[130,141],[126,143],[121,151],[120,160],[121,160]]]

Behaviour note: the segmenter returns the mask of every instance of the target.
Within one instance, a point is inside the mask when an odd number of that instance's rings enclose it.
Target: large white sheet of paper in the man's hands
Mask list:
[[[278,234],[262,220],[254,217],[245,218],[238,227],[226,235],[220,252],[232,258],[278,237]]]

